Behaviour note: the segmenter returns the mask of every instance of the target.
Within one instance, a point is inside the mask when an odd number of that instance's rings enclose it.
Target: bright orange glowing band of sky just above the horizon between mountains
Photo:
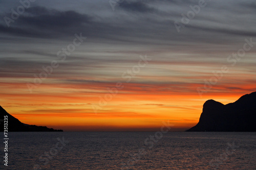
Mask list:
[[[56,92],[50,92],[5,94],[9,103],[2,103],[2,107],[22,123],[65,131],[157,131],[162,121],[167,120],[174,125],[173,131],[182,131],[198,123],[205,101],[214,99],[227,104],[244,94],[241,91],[205,93],[200,98],[197,93],[172,92],[168,95],[168,92],[136,94],[121,91],[95,113],[92,106],[97,104],[100,99],[97,95],[103,96],[102,93],[91,95],[76,91],[56,95]],[[84,98],[84,95],[91,97]],[[13,96],[26,100],[14,103]]]

